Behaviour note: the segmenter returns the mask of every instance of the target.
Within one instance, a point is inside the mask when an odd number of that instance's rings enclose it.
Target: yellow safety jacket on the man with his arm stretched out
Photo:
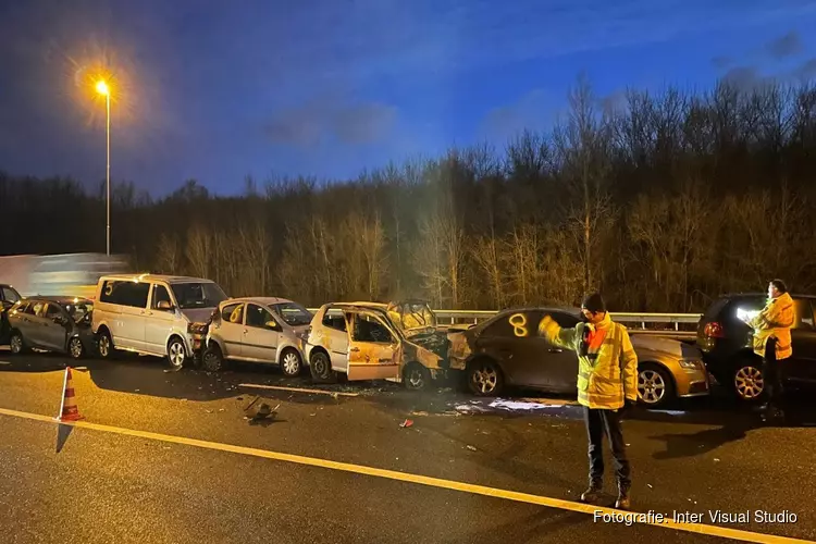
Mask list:
[[[583,355],[584,333],[592,326],[606,330],[606,336],[598,347],[590,347]],[[573,329],[561,329],[547,316],[541,321],[539,332],[553,345],[578,354],[580,405],[617,410],[623,407],[625,399],[638,400],[638,356],[627,329],[615,323],[609,313],[597,325],[579,323]]]

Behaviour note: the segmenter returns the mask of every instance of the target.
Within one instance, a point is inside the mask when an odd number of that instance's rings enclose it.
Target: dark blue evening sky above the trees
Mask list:
[[[0,0],[0,170],[356,176],[546,128],[585,72],[602,97],[718,77],[816,77],[816,0]],[[809,30],[809,33],[808,33]]]

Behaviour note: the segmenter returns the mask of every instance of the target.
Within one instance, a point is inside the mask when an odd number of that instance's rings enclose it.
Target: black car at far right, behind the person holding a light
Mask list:
[[[791,295],[795,321],[791,329],[793,355],[782,362],[786,383],[816,385],[816,296]],[[758,400],[765,392],[762,358],[752,349],[753,331],[738,310],[758,311],[767,301],[763,293],[733,294],[718,298],[697,324],[697,346],[708,372],[742,400]]]

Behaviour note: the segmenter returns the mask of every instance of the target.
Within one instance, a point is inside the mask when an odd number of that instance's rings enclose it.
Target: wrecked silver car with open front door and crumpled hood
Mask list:
[[[311,321],[305,346],[312,380],[390,380],[423,390],[445,375],[449,343],[424,302],[335,302]]]

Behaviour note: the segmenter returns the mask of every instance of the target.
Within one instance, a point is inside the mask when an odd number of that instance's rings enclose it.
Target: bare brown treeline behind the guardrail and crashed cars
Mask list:
[[[211,277],[232,296],[420,297],[437,308],[576,304],[698,311],[780,276],[816,286],[816,88],[725,83],[630,90],[585,82],[549,132],[452,149],[353,181],[298,177],[242,197],[195,181],[113,194],[115,252],[139,271]],[[104,250],[103,191],[0,175],[0,251]]]

